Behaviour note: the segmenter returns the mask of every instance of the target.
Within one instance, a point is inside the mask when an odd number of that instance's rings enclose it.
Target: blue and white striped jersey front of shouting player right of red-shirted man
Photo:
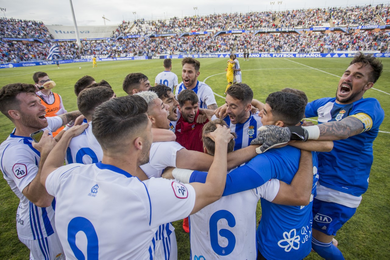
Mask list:
[[[215,115],[211,118],[211,120],[218,119]],[[259,134],[261,123],[261,117],[259,116],[259,112],[256,114],[250,113],[249,118],[244,123],[233,124],[230,122],[230,117],[226,116],[223,119],[230,128],[231,132],[236,132],[237,138],[234,139],[236,144],[234,145],[234,151],[245,148],[250,145],[253,139],[257,137]]]

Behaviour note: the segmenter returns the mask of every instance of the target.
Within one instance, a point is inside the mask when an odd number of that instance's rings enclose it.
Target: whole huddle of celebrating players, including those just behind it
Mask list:
[[[308,103],[286,88],[262,103],[232,54],[219,108],[197,79],[199,61],[183,59],[181,83],[171,60],[163,65],[154,87],[143,73],[124,77],[128,96],[119,98],[105,80],[80,78],[73,112],[43,72],[35,85],[0,89],[15,126],[1,170],[20,198],[16,225],[30,259],[174,260],[171,222],[188,216],[191,260],[298,260],[312,250],[344,259],[333,237],[368,187],[384,112],[363,94],[381,62],[358,53],[335,98]],[[344,159],[351,154],[358,166]]]

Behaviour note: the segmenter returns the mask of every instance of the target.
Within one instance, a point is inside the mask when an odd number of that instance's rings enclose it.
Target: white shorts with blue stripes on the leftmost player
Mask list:
[[[30,260],[65,260],[65,253],[57,233],[43,239],[30,240],[19,237],[19,240],[30,249]]]

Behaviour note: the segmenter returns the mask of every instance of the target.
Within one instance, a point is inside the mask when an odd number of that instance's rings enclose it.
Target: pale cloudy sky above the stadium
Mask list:
[[[252,3],[251,3],[252,2]],[[309,7],[329,7],[365,4],[388,4],[374,0],[197,0],[189,4],[179,0],[73,0],[73,9],[77,25],[104,25],[102,16],[110,21],[107,25],[119,24],[124,20],[136,18],[163,18],[188,15],[199,15],[223,12],[248,12],[266,10],[300,9]],[[0,7],[5,8],[7,18],[39,20],[47,25],[73,25],[69,1],[55,0],[0,0]],[[197,10],[194,10],[197,7]],[[133,13],[134,12],[134,13]],[[0,12],[4,17],[4,12]]]

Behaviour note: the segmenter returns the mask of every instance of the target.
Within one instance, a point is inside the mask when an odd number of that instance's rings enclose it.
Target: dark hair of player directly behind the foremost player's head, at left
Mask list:
[[[103,102],[110,100],[114,91],[108,87],[88,87],[77,96],[78,110],[86,117],[90,118],[94,114],[95,108]]]

